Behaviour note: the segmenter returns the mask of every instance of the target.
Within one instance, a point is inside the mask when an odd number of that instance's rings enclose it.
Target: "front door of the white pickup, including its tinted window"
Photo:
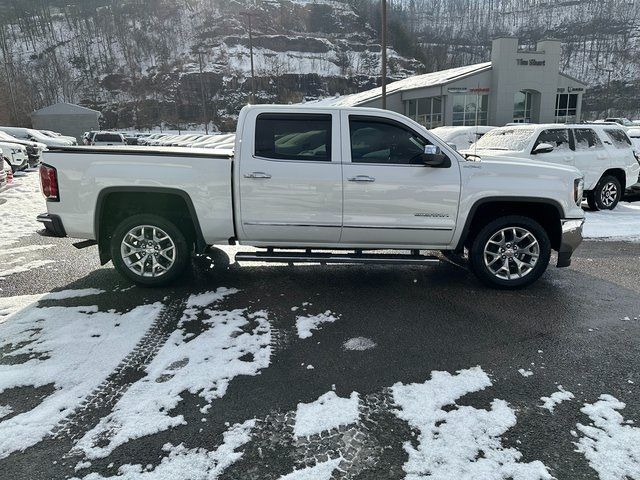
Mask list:
[[[431,142],[385,116],[343,113],[344,218],[341,243],[437,246],[453,236],[460,170],[422,164]]]

